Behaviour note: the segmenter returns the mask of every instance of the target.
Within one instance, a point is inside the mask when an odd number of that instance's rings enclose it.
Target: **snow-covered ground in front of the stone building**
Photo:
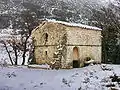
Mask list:
[[[120,76],[119,65],[94,65],[70,70],[0,67],[0,90],[112,90],[110,76]],[[113,86],[114,86],[113,85]],[[108,87],[106,87],[108,86]]]

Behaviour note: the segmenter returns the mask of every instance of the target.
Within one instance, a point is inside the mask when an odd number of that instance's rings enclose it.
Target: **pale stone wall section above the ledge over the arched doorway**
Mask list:
[[[67,44],[101,45],[101,31],[67,27]]]

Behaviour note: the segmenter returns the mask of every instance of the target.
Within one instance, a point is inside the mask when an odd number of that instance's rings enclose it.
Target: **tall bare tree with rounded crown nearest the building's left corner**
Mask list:
[[[29,10],[23,11],[17,19],[17,28],[20,30],[19,35],[21,36],[21,47],[19,49],[22,51],[22,65],[25,64],[26,53],[29,51],[28,45],[30,45],[29,38],[31,36],[31,32],[37,25],[38,19],[36,17],[36,14]]]

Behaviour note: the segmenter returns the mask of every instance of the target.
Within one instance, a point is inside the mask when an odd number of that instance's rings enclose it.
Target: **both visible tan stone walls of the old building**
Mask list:
[[[44,36],[46,33],[47,41]],[[74,47],[78,48],[80,62],[86,57],[101,62],[101,31],[43,22],[32,32],[32,37],[35,41],[36,62],[39,64],[54,61],[54,53],[60,52],[57,48],[59,46],[63,48],[61,50],[62,68],[72,65]]]

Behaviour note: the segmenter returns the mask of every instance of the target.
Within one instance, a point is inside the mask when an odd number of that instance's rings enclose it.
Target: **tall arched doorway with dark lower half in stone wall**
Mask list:
[[[79,68],[79,51],[77,47],[73,48],[73,68]]]

